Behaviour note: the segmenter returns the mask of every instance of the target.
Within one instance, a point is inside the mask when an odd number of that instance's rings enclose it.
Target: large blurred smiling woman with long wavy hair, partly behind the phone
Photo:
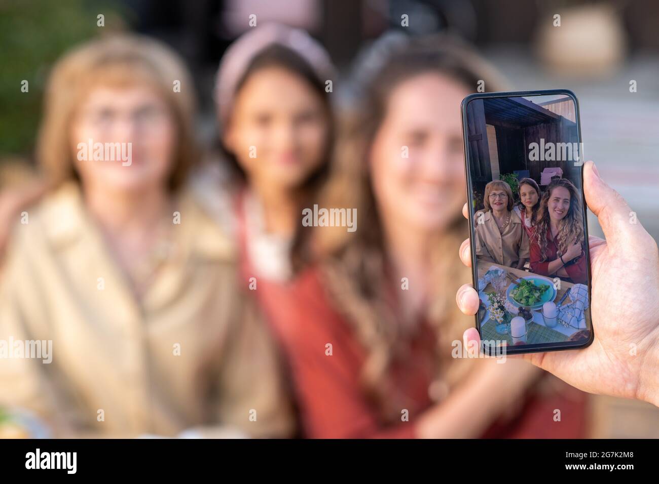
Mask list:
[[[525,398],[539,376],[529,365],[451,355],[473,325],[453,309],[469,280],[455,262],[467,232],[456,113],[478,80],[496,90],[496,74],[447,38],[398,36],[378,41],[356,72],[362,102],[321,207],[356,208],[357,230],[312,229],[324,259],[272,304],[305,435],[581,435],[581,406]],[[508,427],[497,426],[502,414],[514,416]]]

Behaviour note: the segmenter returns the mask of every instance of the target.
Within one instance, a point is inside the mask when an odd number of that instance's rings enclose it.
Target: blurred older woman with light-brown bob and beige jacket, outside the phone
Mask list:
[[[184,188],[193,100],[181,61],[146,38],[53,68],[38,158],[55,188],[14,228],[0,287],[0,338],[51,340],[52,363],[0,360],[0,405],[55,435],[291,432],[233,244]]]

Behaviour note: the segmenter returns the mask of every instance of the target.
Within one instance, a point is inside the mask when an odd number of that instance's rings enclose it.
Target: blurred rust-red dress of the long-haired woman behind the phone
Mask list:
[[[239,215],[239,227],[244,218]],[[254,276],[245,256],[244,230],[240,230],[244,281]],[[434,376],[435,338],[422,325],[410,342],[411,358],[392,365],[392,382],[397,401],[409,410],[409,421],[385,423],[380,408],[368,398],[360,379],[366,350],[353,327],[333,307],[317,269],[308,269],[295,281],[258,279],[254,290],[259,306],[283,350],[291,372],[293,393],[304,437],[397,438],[416,437],[416,417],[433,405],[428,387]],[[328,355],[331,344],[331,356]],[[585,435],[585,394],[577,402],[562,397],[542,401],[529,399],[511,423],[494,423],[482,437],[580,438]],[[486,404],[486,402],[484,402]],[[561,422],[552,421],[561,409]]]

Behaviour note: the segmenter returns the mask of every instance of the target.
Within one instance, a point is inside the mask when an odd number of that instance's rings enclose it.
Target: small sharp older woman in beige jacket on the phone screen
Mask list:
[[[529,259],[529,236],[513,211],[509,184],[492,180],[485,186],[484,211],[476,212],[476,257],[521,269]]]

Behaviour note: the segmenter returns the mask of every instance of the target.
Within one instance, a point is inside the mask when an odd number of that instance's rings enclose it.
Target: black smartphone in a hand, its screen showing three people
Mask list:
[[[461,111],[482,351],[585,348],[594,334],[577,97],[479,93]]]

